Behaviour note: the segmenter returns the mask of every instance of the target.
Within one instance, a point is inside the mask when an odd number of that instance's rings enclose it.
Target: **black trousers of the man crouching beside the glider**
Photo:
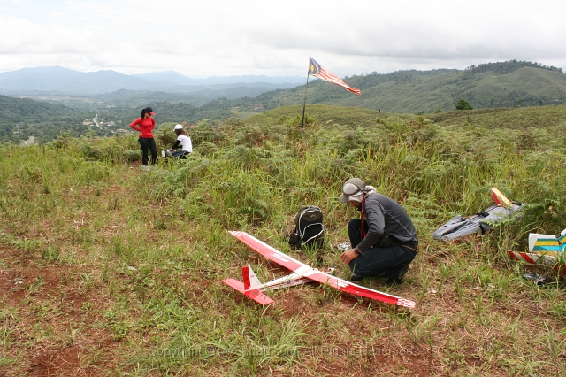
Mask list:
[[[361,227],[362,219],[351,219],[348,223],[348,235],[352,248],[362,242]],[[364,229],[367,228],[367,222],[365,222]],[[417,247],[413,245],[373,246],[370,250],[363,252],[362,255],[352,259],[348,266],[352,273],[356,273],[356,275],[395,278],[399,276],[402,267],[409,265],[416,256]]]

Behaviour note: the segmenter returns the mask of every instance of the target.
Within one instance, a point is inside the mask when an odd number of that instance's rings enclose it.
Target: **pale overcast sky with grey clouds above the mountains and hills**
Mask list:
[[[566,1],[0,0],[0,72],[340,76],[529,60],[566,69]]]

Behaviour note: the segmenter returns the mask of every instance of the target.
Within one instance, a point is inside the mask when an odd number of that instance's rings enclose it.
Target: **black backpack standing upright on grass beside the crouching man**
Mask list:
[[[322,225],[322,211],[310,205],[302,207],[294,216],[294,231],[289,235],[289,244],[296,249],[316,247],[325,243],[325,227]]]

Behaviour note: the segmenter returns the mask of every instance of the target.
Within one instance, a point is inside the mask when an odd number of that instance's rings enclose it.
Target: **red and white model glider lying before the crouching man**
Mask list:
[[[328,284],[335,289],[340,289],[341,291],[347,292],[351,295],[368,297],[374,300],[383,301],[384,303],[405,306],[410,309],[415,307],[415,303],[413,301],[402,297],[388,295],[386,293],[379,292],[379,290],[361,287],[351,283],[350,281],[345,281],[323,271],[317,270],[316,268],[312,268],[310,265],[305,265],[304,263],[287,256],[287,254],[272,248],[272,246],[267,243],[259,241],[256,237],[249,235],[246,232],[230,231],[230,234],[239,239],[241,242],[247,244],[251,249],[256,250],[265,258],[268,258],[293,271],[293,273],[285,277],[262,284],[259,279],[257,279],[256,274],[252,271],[251,267],[246,265],[241,269],[243,282],[235,279],[223,280],[224,283],[233,289],[236,289],[238,292],[249,296],[249,298],[256,300],[259,304],[267,305],[274,303],[270,297],[264,294],[264,291],[266,290],[291,287],[308,281],[318,281],[319,283]]]

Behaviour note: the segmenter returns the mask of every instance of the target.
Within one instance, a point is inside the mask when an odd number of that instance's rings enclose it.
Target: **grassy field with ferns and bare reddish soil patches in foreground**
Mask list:
[[[201,122],[190,158],[150,171],[131,162],[131,137],[0,147],[0,375],[566,375],[562,276],[507,254],[566,227],[566,106],[428,118],[308,106],[302,137],[300,109]],[[226,230],[348,278],[335,245],[357,216],[337,199],[352,176],[415,222],[402,285],[363,281],[414,310],[317,285],[265,308],[221,283],[242,265],[284,273]],[[432,239],[491,205],[493,186],[528,204],[521,219]],[[325,213],[318,254],[285,239],[308,204]]]

